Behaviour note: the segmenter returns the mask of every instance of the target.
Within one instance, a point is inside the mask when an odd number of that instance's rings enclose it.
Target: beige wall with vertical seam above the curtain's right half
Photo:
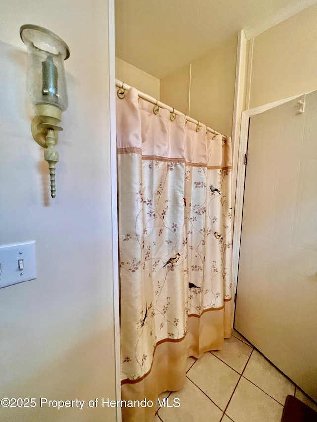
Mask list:
[[[192,62],[189,115],[231,136],[237,36]],[[161,101],[188,114],[189,66],[161,79]]]

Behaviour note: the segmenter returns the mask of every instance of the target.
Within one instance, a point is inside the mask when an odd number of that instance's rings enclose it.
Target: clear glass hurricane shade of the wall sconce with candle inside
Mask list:
[[[64,60],[69,57],[67,44],[53,32],[36,25],[20,28],[28,49],[27,90],[32,104],[51,104],[65,111],[68,96]]]

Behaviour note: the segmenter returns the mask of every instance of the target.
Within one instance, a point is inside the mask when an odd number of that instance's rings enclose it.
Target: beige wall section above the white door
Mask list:
[[[254,38],[250,104],[247,108],[316,89],[315,4]]]

